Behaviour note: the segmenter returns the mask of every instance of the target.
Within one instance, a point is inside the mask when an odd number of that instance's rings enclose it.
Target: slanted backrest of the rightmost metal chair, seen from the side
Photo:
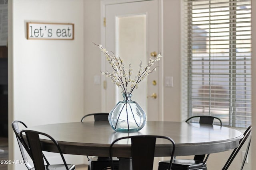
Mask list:
[[[230,164],[232,163],[232,161],[234,160],[234,158],[236,157],[236,155],[238,154],[238,152],[240,151],[240,149],[242,148],[244,143],[246,141],[248,141],[248,144],[247,144],[247,147],[246,147],[246,152],[244,154],[244,160],[243,160],[242,165],[241,165],[241,170],[243,169],[244,163],[245,163],[245,160],[247,158],[248,151],[249,151],[250,143],[251,143],[251,138],[252,138],[251,134],[252,134],[252,126],[249,126],[246,129],[246,131],[244,132],[244,137],[242,139],[240,139],[238,147],[233,150],[232,154],[228,158],[228,160],[227,160],[226,164],[224,165],[224,167],[222,168],[222,170],[227,170],[228,169],[228,167],[230,166]]]

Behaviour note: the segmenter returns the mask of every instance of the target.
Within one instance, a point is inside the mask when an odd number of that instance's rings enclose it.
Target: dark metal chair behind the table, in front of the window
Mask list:
[[[199,119],[199,120],[198,120]],[[196,121],[195,121],[196,120]],[[217,120],[218,124],[222,126],[222,121],[218,117],[209,115],[199,115],[189,117],[185,122],[198,122],[200,124],[214,124],[214,120]],[[195,155],[193,160],[190,159],[174,159],[172,162],[173,170],[207,170],[206,160],[210,154]],[[205,159],[204,159],[205,158]],[[166,170],[168,161],[160,161],[158,163],[158,170]]]

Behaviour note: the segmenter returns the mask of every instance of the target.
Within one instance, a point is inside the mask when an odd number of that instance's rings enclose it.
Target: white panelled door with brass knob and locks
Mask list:
[[[124,1],[111,1],[120,3]],[[124,60],[128,70],[128,65],[132,65],[132,78],[139,70],[139,64],[145,67],[152,57],[151,53],[159,53],[161,46],[161,23],[159,17],[158,0],[129,2],[121,4],[105,4],[105,26],[103,27],[103,40],[106,50],[112,51]],[[108,62],[104,59],[102,71],[112,72]],[[144,82],[140,82],[138,89],[132,92],[132,100],[136,101],[147,115],[147,120],[158,121],[162,118],[162,64],[158,61],[156,71],[149,74]],[[115,104],[123,100],[122,91],[118,90],[110,78],[104,79],[104,89],[102,90],[102,111],[109,112]],[[154,95],[153,95],[154,94]],[[151,97],[153,96],[153,97]]]

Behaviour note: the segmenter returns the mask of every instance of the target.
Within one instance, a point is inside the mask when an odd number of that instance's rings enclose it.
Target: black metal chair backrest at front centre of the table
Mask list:
[[[170,164],[168,170],[172,166],[174,158],[175,143],[170,137],[157,136],[157,135],[138,135],[130,137],[121,137],[112,142],[109,148],[110,160],[112,162],[112,170],[114,170],[114,163],[112,159],[113,145],[120,140],[131,139],[131,153],[132,153],[132,169],[133,170],[152,170],[154,162],[154,151],[156,139],[162,138],[169,140],[170,143]]]

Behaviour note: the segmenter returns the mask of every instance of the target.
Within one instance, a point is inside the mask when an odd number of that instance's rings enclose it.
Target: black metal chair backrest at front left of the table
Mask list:
[[[26,135],[26,140],[24,139],[24,135]],[[58,149],[58,152],[60,153],[60,156],[64,162],[66,169],[68,170],[68,165],[66,164],[66,160],[64,159],[64,156],[60,149],[60,146],[58,145],[58,143],[55,139],[53,139],[50,135],[48,135],[46,133],[25,129],[25,130],[20,131],[20,137],[21,137],[22,142],[25,145],[26,145],[26,141],[27,141],[27,144],[28,144],[27,147],[29,148],[30,157],[32,158],[33,163],[34,163],[34,168],[36,170],[45,170],[44,154],[42,152],[39,135],[47,137],[54,143],[54,145]]]

